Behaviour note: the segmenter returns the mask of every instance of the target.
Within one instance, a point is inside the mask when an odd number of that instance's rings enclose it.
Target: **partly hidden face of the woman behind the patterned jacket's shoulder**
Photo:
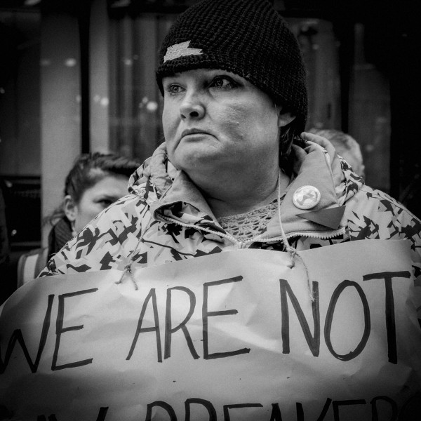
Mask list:
[[[101,210],[127,194],[128,178],[124,175],[106,175],[83,192],[74,204],[74,230],[80,232]],[[69,217],[67,217],[69,218]]]

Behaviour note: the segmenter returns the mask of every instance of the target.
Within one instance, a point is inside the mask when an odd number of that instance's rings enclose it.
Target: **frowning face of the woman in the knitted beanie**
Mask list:
[[[287,122],[246,79],[194,69],[165,77],[163,89],[163,133],[176,168],[235,173],[279,162],[279,126]]]

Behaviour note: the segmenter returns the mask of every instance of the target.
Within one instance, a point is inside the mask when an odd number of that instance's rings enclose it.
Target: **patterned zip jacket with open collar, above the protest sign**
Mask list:
[[[307,142],[304,149],[294,150],[295,177],[280,207],[290,245],[305,250],[359,239],[410,239],[415,276],[420,276],[420,220],[389,195],[364,185],[330,142]],[[341,206],[345,212],[337,214],[338,223],[326,222],[332,225],[328,227],[298,216],[309,212],[293,205],[294,192],[304,185],[321,192],[312,215]],[[163,143],[132,175],[129,194],[69,241],[39,276],[124,269],[129,263],[162,265],[236,248],[283,250],[278,213],[259,236],[236,241],[218,224],[188,176],[168,161]]]

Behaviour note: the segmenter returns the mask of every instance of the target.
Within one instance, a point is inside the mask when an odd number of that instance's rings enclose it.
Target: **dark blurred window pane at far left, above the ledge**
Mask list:
[[[0,5],[0,175],[41,175],[40,25],[39,11]]]

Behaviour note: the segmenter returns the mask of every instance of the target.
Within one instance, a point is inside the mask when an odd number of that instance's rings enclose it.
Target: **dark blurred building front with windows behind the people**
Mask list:
[[[142,161],[163,140],[156,53],[195,0],[0,0],[0,182],[10,261],[45,245],[82,152]],[[307,65],[307,128],[361,146],[366,182],[421,216],[417,0],[274,0]],[[0,208],[1,208],[0,203]],[[0,209],[1,210],[1,209]],[[3,301],[3,300],[0,300]]]

